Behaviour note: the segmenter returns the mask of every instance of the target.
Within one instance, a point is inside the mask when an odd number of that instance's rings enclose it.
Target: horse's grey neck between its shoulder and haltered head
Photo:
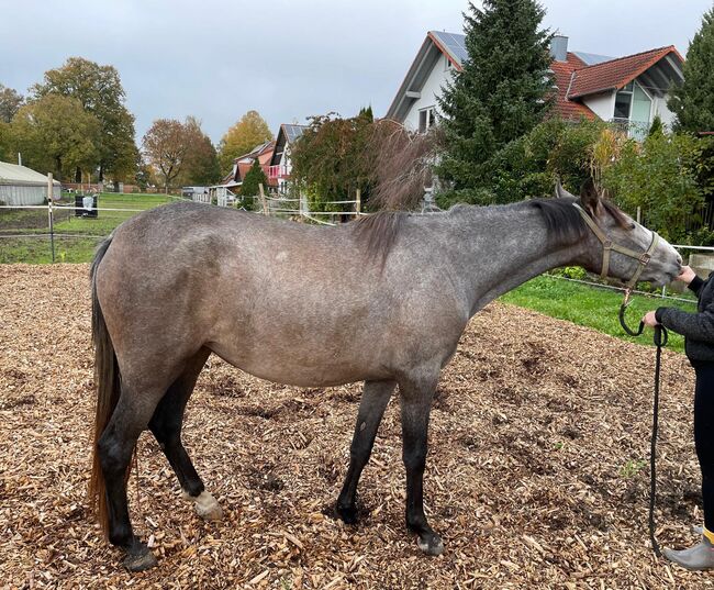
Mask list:
[[[581,247],[554,243],[540,212],[525,204],[453,212],[459,244],[449,256],[462,277],[470,314],[538,275],[577,264]]]

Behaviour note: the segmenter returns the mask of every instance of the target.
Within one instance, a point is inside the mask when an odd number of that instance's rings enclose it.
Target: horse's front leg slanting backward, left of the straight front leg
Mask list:
[[[384,408],[392,397],[395,385],[394,381],[365,381],[355,434],[349,448],[349,468],[335,508],[339,517],[347,524],[357,522],[355,505],[357,483],[371,455],[379,423],[382,421]]]

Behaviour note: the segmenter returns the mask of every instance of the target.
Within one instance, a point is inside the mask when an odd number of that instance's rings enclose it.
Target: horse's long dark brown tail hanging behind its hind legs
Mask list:
[[[111,242],[110,235],[100,244],[94,254],[90,270],[92,291],[92,342],[94,344],[94,383],[97,387],[97,413],[94,418],[94,434],[92,438],[92,472],[89,480],[89,503],[104,534],[109,531],[109,512],[107,508],[107,491],[97,444],[104,432],[107,423],[116,408],[120,396],[120,374],[116,355],[111,337],[107,331],[104,315],[97,299],[97,269],[107,253]],[[130,464],[131,465],[131,464]]]

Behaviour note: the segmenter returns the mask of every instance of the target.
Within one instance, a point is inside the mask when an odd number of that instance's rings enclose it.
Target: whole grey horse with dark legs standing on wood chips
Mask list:
[[[426,554],[444,550],[426,521],[423,475],[429,410],[439,371],[469,319],[487,303],[555,267],[671,280],[681,258],[665,241],[599,198],[511,205],[457,205],[427,215],[382,213],[337,227],[177,203],[125,222],[91,268],[98,385],[90,494],[124,565],[156,564],[132,532],[126,478],[140,433],[149,428],[185,496],[205,519],[222,511],[181,444],[186,404],[209,355],[263,379],[300,387],[364,381],[344,487],[347,523],[384,408],[400,389],[406,526]],[[578,207],[574,207],[574,204]],[[648,256],[649,258],[649,256]]]

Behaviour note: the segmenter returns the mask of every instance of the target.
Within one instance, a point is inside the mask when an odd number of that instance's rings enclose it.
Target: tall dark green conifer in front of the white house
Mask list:
[[[439,100],[445,151],[437,174],[451,186],[447,201],[494,202],[499,153],[544,120],[553,103],[549,44],[535,0],[469,3],[468,59]],[[442,202],[444,200],[442,199]]]

